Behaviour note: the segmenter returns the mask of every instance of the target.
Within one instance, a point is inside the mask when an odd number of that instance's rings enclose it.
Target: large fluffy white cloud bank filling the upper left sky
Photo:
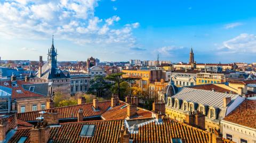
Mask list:
[[[139,23],[115,28],[121,20],[119,16],[102,20],[94,15],[98,1],[0,1],[0,37],[46,39],[54,34],[58,39],[81,45],[123,44],[134,47],[132,30]]]

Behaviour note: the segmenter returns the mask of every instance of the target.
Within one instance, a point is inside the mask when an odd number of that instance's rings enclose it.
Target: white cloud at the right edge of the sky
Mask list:
[[[233,39],[224,41],[220,50],[228,53],[256,53],[256,36],[241,33]]]

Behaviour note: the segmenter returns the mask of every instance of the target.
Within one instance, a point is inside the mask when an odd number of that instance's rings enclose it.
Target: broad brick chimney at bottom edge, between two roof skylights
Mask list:
[[[38,122],[37,125],[30,129],[31,143],[47,143],[50,138],[50,127],[47,122]]]

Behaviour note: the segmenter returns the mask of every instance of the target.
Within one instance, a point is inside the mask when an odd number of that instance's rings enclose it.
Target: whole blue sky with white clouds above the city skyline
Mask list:
[[[256,62],[256,1],[0,0],[2,60]]]

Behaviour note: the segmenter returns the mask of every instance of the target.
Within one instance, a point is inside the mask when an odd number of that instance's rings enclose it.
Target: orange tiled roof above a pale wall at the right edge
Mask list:
[[[245,99],[223,120],[256,129],[256,100]]]

